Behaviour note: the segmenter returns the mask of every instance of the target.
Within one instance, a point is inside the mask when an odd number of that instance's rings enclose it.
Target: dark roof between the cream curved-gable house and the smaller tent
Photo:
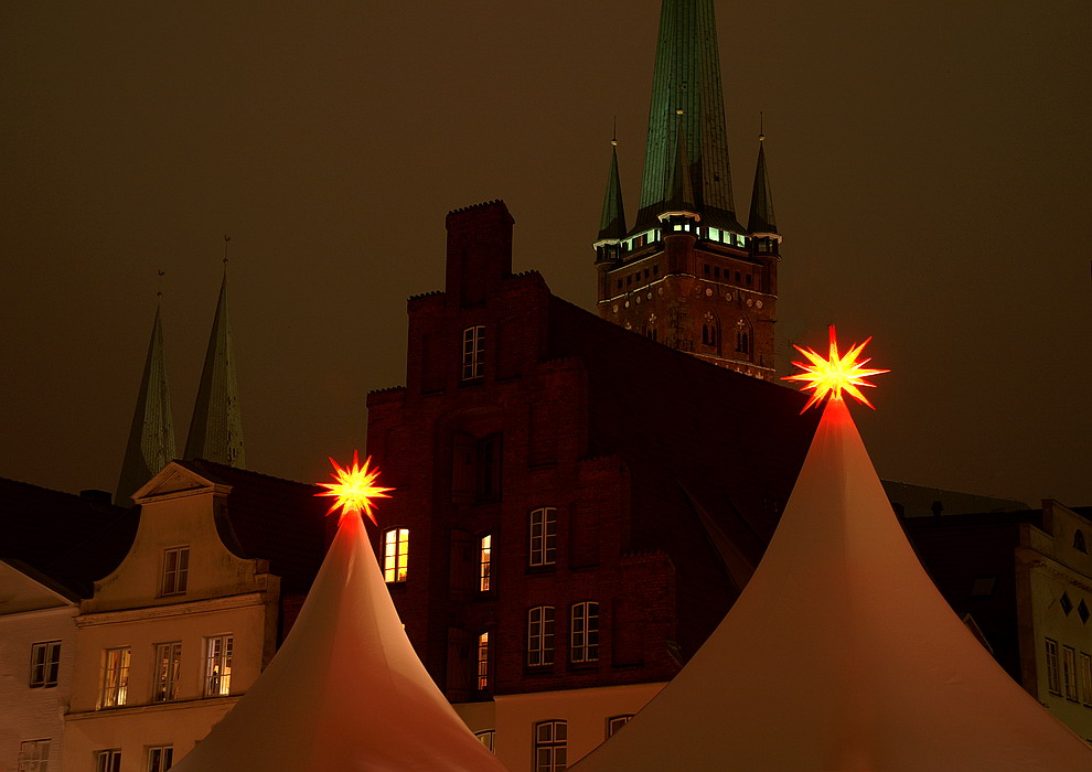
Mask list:
[[[285,589],[311,586],[326,550],[326,500],[310,483],[282,480],[199,459],[183,467],[213,482],[232,486],[227,496],[229,527],[222,537],[239,557],[269,561]]]

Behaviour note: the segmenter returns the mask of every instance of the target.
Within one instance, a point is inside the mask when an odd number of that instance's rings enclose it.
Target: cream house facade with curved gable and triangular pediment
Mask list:
[[[66,772],[169,769],[272,657],[280,580],[225,544],[231,490],[171,463],[135,495],[129,554],[75,620]]]

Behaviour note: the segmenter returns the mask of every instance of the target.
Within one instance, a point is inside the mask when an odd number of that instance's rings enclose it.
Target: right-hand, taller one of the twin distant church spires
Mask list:
[[[229,467],[246,467],[243,449],[243,416],[239,410],[239,388],[235,378],[235,354],[232,350],[232,323],[227,317],[227,269],[220,286],[220,301],[205,366],[201,372],[197,400],[185,441],[185,458],[207,459]]]

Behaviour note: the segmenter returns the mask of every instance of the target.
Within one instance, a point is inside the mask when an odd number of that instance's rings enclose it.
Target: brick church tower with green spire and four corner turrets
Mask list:
[[[595,248],[600,317],[773,378],[781,236],[761,141],[747,226],[736,217],[713,0],[663,2],[636,219],[612,148]]]

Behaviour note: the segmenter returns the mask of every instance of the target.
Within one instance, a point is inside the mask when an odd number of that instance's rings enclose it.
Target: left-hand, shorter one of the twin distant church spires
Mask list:
[[[167,360],[163,356],[163,325],[157,305],[115,501],[121,506],[131,504],[132,494],[174,457],[174,415],[171,412],[171,389],[167,383]]]

